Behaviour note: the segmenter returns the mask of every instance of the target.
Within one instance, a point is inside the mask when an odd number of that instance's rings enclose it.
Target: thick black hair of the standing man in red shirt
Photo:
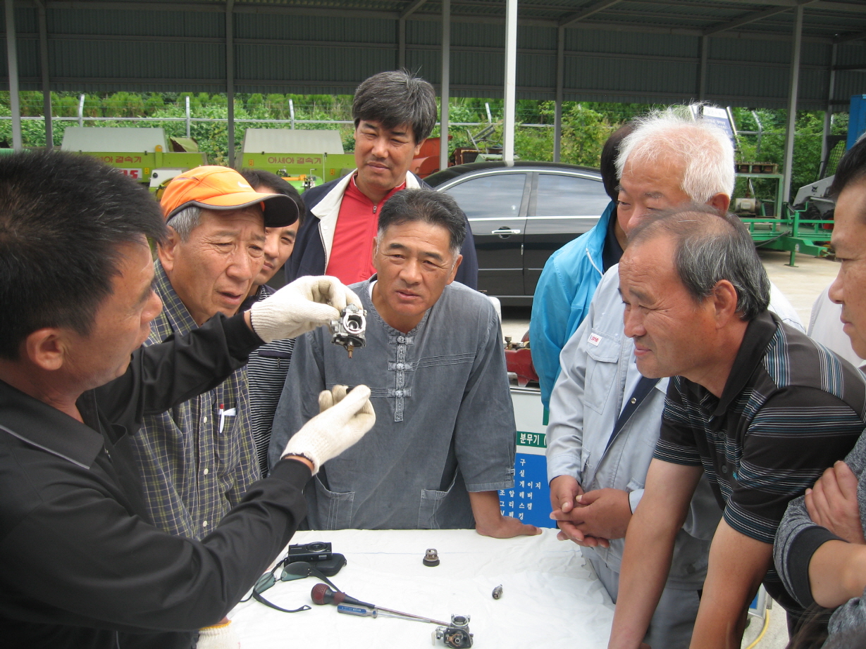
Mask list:
[[[417,145],[430,137],[436,125],[436,92],[409,70],[373,74],[355,90],[352,119],[355,128],[361,119],[380,122],[385,128],[410,124]]]

